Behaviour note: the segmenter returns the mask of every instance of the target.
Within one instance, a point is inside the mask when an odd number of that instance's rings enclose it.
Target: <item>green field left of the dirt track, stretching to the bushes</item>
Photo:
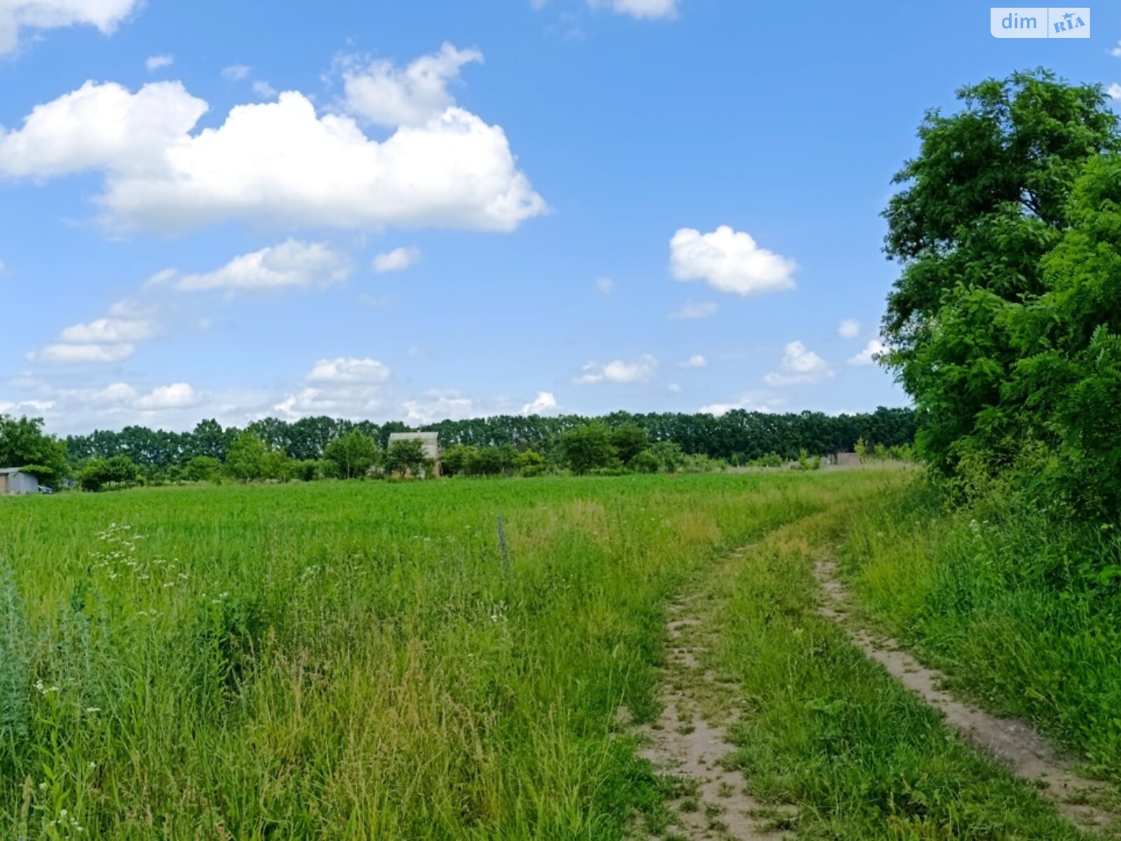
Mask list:
[[[620,704],[652,713],[666,598],[880,481],[842,479],[3,500],[0,814],[113,838],[618,837],[656,797],[613,729]]]

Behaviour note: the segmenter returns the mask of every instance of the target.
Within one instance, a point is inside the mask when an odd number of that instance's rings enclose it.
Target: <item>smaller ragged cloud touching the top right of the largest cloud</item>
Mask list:
[[[361,65],[346,59],[343,107],[377,126],[424,126],[455,104],[447,86],[460,77],[460,68],[482,59],[478,49],[456,49],[451,44],[405,68],[386,61]]]

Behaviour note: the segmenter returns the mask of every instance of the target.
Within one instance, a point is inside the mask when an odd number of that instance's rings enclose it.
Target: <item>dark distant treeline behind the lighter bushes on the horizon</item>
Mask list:
[[[886,447],[915,440],[915,413],[909,408],[880,407],[873,413],[826,415],[821,412],[773,415],[761,412],[710,414],[630,414],[617,412],[603,417],[560,415],[557,417],[498,415],[469,420],[442,420],[419,427],[391,422],[342,420],[307,417],[299,420],[266,418],[244,431],[254,433],[267,446],[297,461],[322,459],[327,445],[355,429],[386,449],[395,432],[437,432],[441,446],[506,446],[547,453],[568,429],[600,422],[610,428],[634,424],[651,442],[671,442],[688,455],[704,455],[732,463],[748,462],[769,454],[796,459],[803,451],[817,454],[852,452],[856,441]],[[98,431],[65,438],[72,464],[89,459],[124,455],[146,468],[184,466],[196,456],[225,461],[230,444],[242,429],[203,420],[192,432],[164,432],[128,426],[120,432]]]

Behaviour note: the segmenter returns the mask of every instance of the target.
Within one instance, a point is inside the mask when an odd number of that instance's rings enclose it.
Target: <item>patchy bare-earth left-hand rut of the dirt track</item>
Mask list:
[[[740,553],[734,553],[736,560]],[[725,767],[735,746],[728,738],[734,723],[734,694],[729,684],[704,669],[704,627],[694,595],[670,606],[666,626],[669,663],[665,669],[658,722],[643,729],[642,756],[664,774],[679,780],[680,796],[671,804],[677,825],[667,839],[714,841],[776,841],[786,838],[768,829],[776,819],[789,817],[767,810],[744,788],[743,775]]]

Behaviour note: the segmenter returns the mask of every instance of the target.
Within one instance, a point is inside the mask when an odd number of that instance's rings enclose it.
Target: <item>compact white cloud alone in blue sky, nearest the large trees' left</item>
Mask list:
[[[793,260],[759,248],[742,231],[721,225],[712,233],[683,228],[669,241],[678,280],[703,280],[721,292],[758,295],[794,288]]]

